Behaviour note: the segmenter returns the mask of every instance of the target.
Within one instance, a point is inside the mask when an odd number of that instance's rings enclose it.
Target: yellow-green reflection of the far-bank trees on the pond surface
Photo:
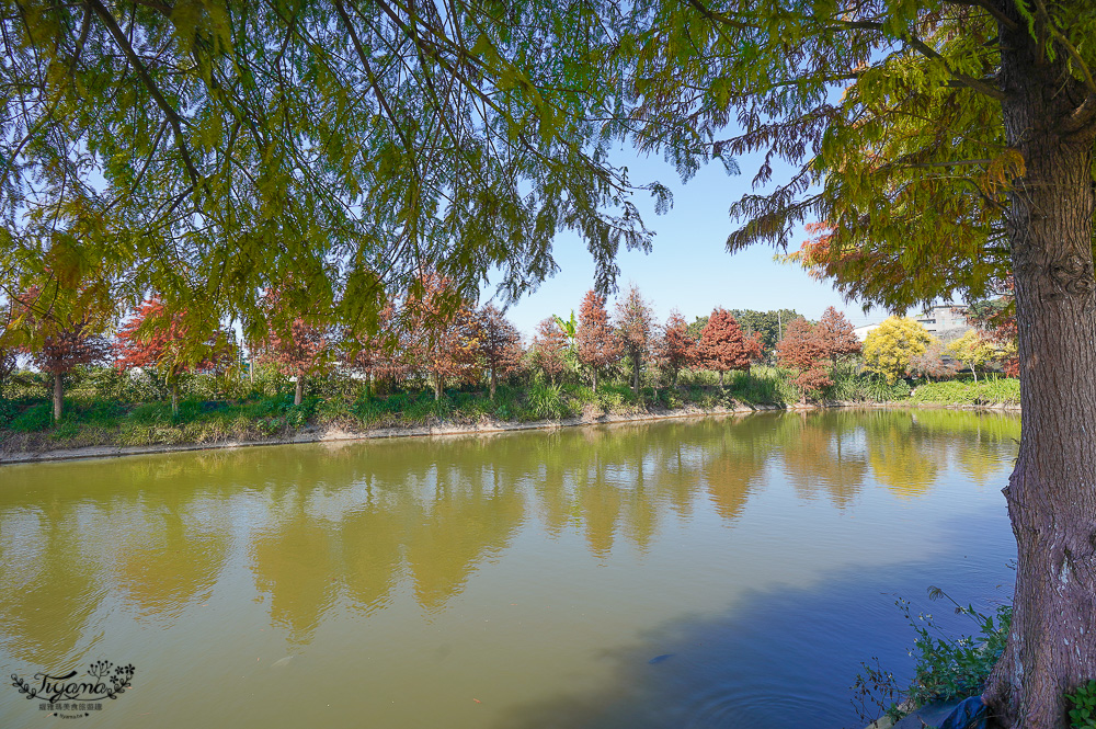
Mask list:
[[[653,559],[706,513],[740,528],[763,494],[844,512],[878,485],[909,503],[951,466],[984,486],[1018,430],[832,411],[5,467],[0,658],[65,664],[103,620],[170,627],[218,595],[260,601],[297,648],[401,594],[434,619],[525,537]]]

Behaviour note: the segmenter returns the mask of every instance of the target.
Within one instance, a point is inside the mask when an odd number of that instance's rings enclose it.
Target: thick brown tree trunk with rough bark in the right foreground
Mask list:
[[[1064,694],[1096,677],[1096,127],[1074,115],[1084,93],[1066,54],[1038,58],[1027,21],[1001,7],[1017,24],[1001,27],[1005,134],[1026,168],[1005,215],[1024,418],[1004,489],[1017,544],[1013,624],[985,698],[1004,727],[1064,729]]]

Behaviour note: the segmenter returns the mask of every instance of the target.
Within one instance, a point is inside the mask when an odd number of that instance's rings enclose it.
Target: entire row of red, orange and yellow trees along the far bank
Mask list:
[[[447,384],[486,383],[493,400],[501,378],[530,371],[552,385],[564,372],[578,372],[594,390],[606,374],[620,372],[627,373],[637,392],[643,381],[655,388],[676,386],[682,371],[715,372],[722,386],[726,373],[749,372],[772,351],[780,365],[796,371],[792,383],[807,399],[833,385],[838,364],[861,352],[852,323],[833,307],[818,323],[794,311],[721,307],[692,324],[676,310],[659,323],[636,286],[616,301],[612,316],[605,297],[587,292],[578,317],[572,312],[569,319],[546,318],[526,346],[493,304],[476,306],[436,274],[416,283],[385,306],[375,320],[357,328],[334,327],[322,317],[302,315],[282,289],[269,291],[263,298],[269,326],[247,343],[252,373],[254,365],[265,364],[294,379],[297,405],[308,378],[334,367],[361,377],[370,389],[377,383],[406,387],[411,380],[429,380],[435,398],[441,398]],[[64,376],[80,365],[113,362],[121,369],[155,372],[170,392],[172,411],[178,412],[184,374],[224,372],[242,361],[231,330],[192,318],[187,310],[171,311],[158,298],[138,306],[117,328],[113,341],[106,337],[109,319],[91,314],[96,310],[94,297],[85,297],[77,309],[53,307],[43,298],[42,292],[32,288],[9,308],[0,338],[0,344],[7,343],[0,346],[0,361],[8,364],[0,376],[14,369],[16,351],[28,355],[53,377],[55,420],[61,418]],[[973,321],[985,328],[948,345],[917,322],[892,317],[864,343],[865,368],[889,383],[901,376],[951,376],[960,365],[977,377],[977,368],[1015,356],[1009,329],[1000,321],[1004,306],[978,309]],[[747,333],[735,312],[764,330]],[[792,318],[785,322],[784,315]],[[768,338],[774,340],[772,349],[766,348]],[[15,341],[18,346],[12,344]]]

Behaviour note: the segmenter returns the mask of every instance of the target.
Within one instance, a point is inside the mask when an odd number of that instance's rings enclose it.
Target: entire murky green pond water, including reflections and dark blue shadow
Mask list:
[[[789,413],[5,466],[0,672],[133,664],[84,727],[853,727],[859,662],[910,668],[895,595],[1009,594],[1018,434]],[[5,685],[0,726],[41,704]]]

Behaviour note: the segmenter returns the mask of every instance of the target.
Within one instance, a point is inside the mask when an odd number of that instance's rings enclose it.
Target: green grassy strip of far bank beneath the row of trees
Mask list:
[[[636,415],[681,408],[704,410],[740,406],[787,406],[800,400],[791,373],[754,367],[732,373],[724,386],[713,373],[686,373],[676,387],[641,388],[603,383],[595,392],[569,381],[551,385],[534,379],[501,385],[494,400],[479,389],[446,390],[439,400],[424,389],[370,395],[354,381],[310,384],[308,397],[293,405],[292,384],[275,377],[256,383],[215,381],[195,377],[186,383],[179,414],[173,417],[165,392],[151,381],[133,381],[110,372],[85,373],[72,384],[64,420],[54,424],[44,384],[33,379],[10,387],[0,398],[0,451],[43,452],[84,446],[145,446],[217,443],[292,437],[301,432],[341,429],[363,432],[378,428],[463,425],[487,421],[532,422],[567,418]],[[932,402],[940,405],[1018,401],[1016,380],[931,383],[910,397],[909,383],[887,385],[845,373],[824,394],[843,402]],[[994,399],[1000,398],[1000,399]]]

